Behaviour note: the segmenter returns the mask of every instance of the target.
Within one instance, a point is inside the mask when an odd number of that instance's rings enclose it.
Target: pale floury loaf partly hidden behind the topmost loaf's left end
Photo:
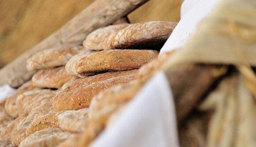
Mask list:
[[[83,46],[89,50],[103,50],[105,39],[114,32],[126,28],[131,24],[109,25],[91,32],[83,41]]]

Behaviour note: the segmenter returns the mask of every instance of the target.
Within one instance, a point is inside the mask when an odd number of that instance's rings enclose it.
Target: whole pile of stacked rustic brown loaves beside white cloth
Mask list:
[[[170,57],[157,50],[176,25],[109,25],[91,32],[83,46],[34,54],[27,69],[38,71],[0,102],[0,147],[89,145]]]

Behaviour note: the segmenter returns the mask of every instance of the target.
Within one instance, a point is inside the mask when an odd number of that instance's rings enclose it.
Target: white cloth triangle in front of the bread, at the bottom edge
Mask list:
[[[158,72],[90,147],[178,147],[173,96]]]

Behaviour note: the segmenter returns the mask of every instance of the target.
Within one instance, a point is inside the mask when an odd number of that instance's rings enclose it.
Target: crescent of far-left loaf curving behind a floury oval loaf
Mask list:
[[[18,117],[19,114],[22,114],[23,112],[18,110],[16,106],[16,99],[19,96],[19,94],[24,93],[29,90],[37,90],[40,89],[39,87],[35,86],[34,83],[30,80],[26,83],[24,83],[22,86],[18,88],[18,90],[15,91],[11,95],[11,97],[8,97],[4,104],[4,109],[8,113],[8,115],[11,115],[12,117]]]

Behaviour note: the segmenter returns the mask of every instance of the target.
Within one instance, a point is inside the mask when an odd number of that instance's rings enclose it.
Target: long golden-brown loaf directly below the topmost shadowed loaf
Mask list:
[[[79,75],[139,69],[158,57],[156,50],[103,50],[81,58],[75,66]]]

